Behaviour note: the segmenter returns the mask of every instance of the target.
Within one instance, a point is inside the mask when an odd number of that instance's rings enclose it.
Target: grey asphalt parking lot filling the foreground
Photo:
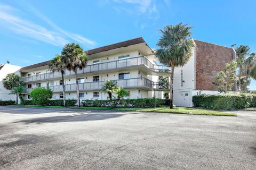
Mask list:
[[[237,117],[0,107],[0,169],[256,169]]]

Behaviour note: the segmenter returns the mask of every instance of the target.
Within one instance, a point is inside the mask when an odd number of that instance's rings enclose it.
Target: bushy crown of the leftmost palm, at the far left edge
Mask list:
[[[21,81],[21,77],[15,73],[7,74],[3,79],[4,88],[12,90],[14,87],[23,86],[24,82]]]

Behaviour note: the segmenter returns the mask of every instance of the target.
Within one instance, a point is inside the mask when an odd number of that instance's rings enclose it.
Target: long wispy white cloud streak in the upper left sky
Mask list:
[[[50,19],[46,18],[46,16],[39,12],[38,17],[51,25],[53,29],[49,30],[34,22],[22,19],[20,17],[19,10],[9,5],[0,4],[0,25],[18,35],[43,41],[54,46],[64,46],[65,44],[69,43],[68,38],[79,43],[83,43],[86,47],[92,47],[95,45],[94,41],[92,40],[84,38],[83,36],[75,33],[69,33],[62,30]]]

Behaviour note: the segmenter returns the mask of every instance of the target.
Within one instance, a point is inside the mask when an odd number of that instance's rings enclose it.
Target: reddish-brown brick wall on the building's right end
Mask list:
[[[212,81],[233,60],[233,49],[195,40],[196,90],[218,90]]]

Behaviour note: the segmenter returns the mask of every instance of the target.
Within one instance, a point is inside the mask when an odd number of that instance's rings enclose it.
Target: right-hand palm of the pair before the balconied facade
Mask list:
[[[79,85],[77,79],[77,69],[82,70],[87,65],[87,56],[82,47],[78,44],[70,43],[66,44],[62,49],[61,56],[63,57],[63,63],[69,71],[74,71],[76,76],[76,92],[78,98],[78,106],[80,107],[79,98]]]

